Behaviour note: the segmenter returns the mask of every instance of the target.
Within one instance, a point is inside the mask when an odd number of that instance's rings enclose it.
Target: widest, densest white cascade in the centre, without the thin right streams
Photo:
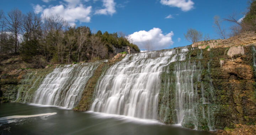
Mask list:
[[[185,60],[188,50],[181,47],[127,55],[98,81],[91,110],[158,119],[162,71],[174,61]]]

